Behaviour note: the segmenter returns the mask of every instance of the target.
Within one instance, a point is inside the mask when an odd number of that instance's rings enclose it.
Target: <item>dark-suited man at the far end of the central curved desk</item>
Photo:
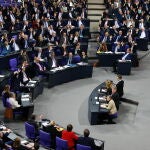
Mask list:
[[[122,80],[121,75],[117,75],[118,83],[116,84],[117,87],[117,93],[119,94],[119,97],[121,98],[124,94],[123,87],[124,87],[124,81]]]

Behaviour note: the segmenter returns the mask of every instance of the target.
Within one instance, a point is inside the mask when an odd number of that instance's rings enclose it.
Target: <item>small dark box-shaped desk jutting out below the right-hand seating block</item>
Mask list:
[[[121,75],[130,75],[131,74],[131,67],[132,62],[131,61],[122,61],[118,60],[117,63],[117,73]]]

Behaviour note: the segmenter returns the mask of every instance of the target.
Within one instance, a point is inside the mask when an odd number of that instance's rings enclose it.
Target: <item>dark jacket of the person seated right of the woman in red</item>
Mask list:
[[[85,146],[90,146],[93,150],[95,149],[95,143],[93,138],[79,137],[77,143]]]

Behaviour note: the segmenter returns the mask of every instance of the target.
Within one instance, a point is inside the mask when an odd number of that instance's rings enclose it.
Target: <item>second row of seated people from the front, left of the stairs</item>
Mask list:
[[[56,34],[54,30],[52,31],[51,35],[49,34],[49,32],[47,33],[48,33],[48,35],[46,35],[47,37],[44,37],[42,36],[42,34],[40,34],[38,36],[35,35],[35,37],[38,37],[37,39],[35,39],[33,35],[30,36],[29,38],[27,34],[25,34],[24,32],[20,32],[18,36],[10,37],[11,38],[10,40],[8,35],[4,33],[1,36],[0,55],[5,56],[8,55],[9,53],[17,52],[20,51],[21,49],[27,49],[35,46],[44,47],[47,46],[48,43],[51,43],[57,47],[59,46],[62,49],[65,49],[69,45],[75,47],[79,42],[82,45],[86,45],[85,50],[87,51],[88,38],[84,37],[86,37],[86,33],[88,32],[86,32],[83,25],[80,26],[80,29],[78,31],[75,30],[75,32],[72,33],[70,33],[70,31],[67,32],[66,30],[62,30],[61,32],[59,32],[60,35]]]

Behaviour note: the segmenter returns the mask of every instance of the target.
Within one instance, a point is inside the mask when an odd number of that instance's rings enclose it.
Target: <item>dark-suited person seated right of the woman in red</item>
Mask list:
[[[93,150],[95,149],[94,139],[89,137],[90,131],[84,130],[84,137],[79,137],[77,143],[85,146],[90,146]]]

